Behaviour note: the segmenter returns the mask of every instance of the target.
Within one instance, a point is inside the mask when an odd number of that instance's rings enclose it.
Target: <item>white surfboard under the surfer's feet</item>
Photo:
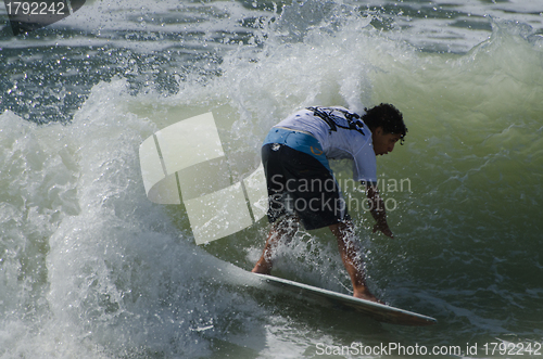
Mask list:
[[[438,322],[431,317],[370,300],[358,299],[351,295],[323,290],[313,285],[302,284],[273,275],[254,274],[257,275],[262,282],[291,292],[301,299],[314,302],[326,307],[355,310],[381,322],[401,325],[432,325]]]

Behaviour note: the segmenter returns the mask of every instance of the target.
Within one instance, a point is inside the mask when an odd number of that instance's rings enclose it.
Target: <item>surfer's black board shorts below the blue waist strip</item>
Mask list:
[[[306,230],[336,225],[348,218],[345,201],[331,170],[314,156],[286,144],[262,148],[269,207],[274,223],[298,215]]]

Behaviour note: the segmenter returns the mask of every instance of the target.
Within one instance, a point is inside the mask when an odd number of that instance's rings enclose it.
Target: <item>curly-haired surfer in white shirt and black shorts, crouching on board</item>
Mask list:
[[[338,240],[353,295],[378,302],[366,285],[362,248],[328,159],[353,161],[353,178],[368,198],[377,231],[393,238],[384,203],[377,189],[376,156],[403,142],[407,128],[393,105],[381,103],[363,115],[346,108],[307,107],[277,124],[262,146],[272,223],[253,272],[270,274],[273,252],[280,239],[291,239],[301,222],[306,230],[329,227]]]

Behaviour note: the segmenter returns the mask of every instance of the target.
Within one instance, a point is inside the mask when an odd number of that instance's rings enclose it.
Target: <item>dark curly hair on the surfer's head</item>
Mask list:
[[[369,129],[375,130],[380,126],[386,133],[399,133],[403,144],[405,134],[407,134],[407,127],[405,127],[402,113],[396,107],[388,103],[381,103],[369,110],[364,108],[364,111],[366,113],[362,116],[362,120]]]

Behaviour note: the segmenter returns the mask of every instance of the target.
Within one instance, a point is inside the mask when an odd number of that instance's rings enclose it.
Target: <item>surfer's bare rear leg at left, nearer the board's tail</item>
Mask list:
[[[292,217],[283,217],[276,221],[269,229],[266,245],[262,252],[261,259],[251,270],[253,273],[270,274],[272,273],[272,255],[274,249],[279,244],[281,239],[291,239],[298,230],[298,221]]]

